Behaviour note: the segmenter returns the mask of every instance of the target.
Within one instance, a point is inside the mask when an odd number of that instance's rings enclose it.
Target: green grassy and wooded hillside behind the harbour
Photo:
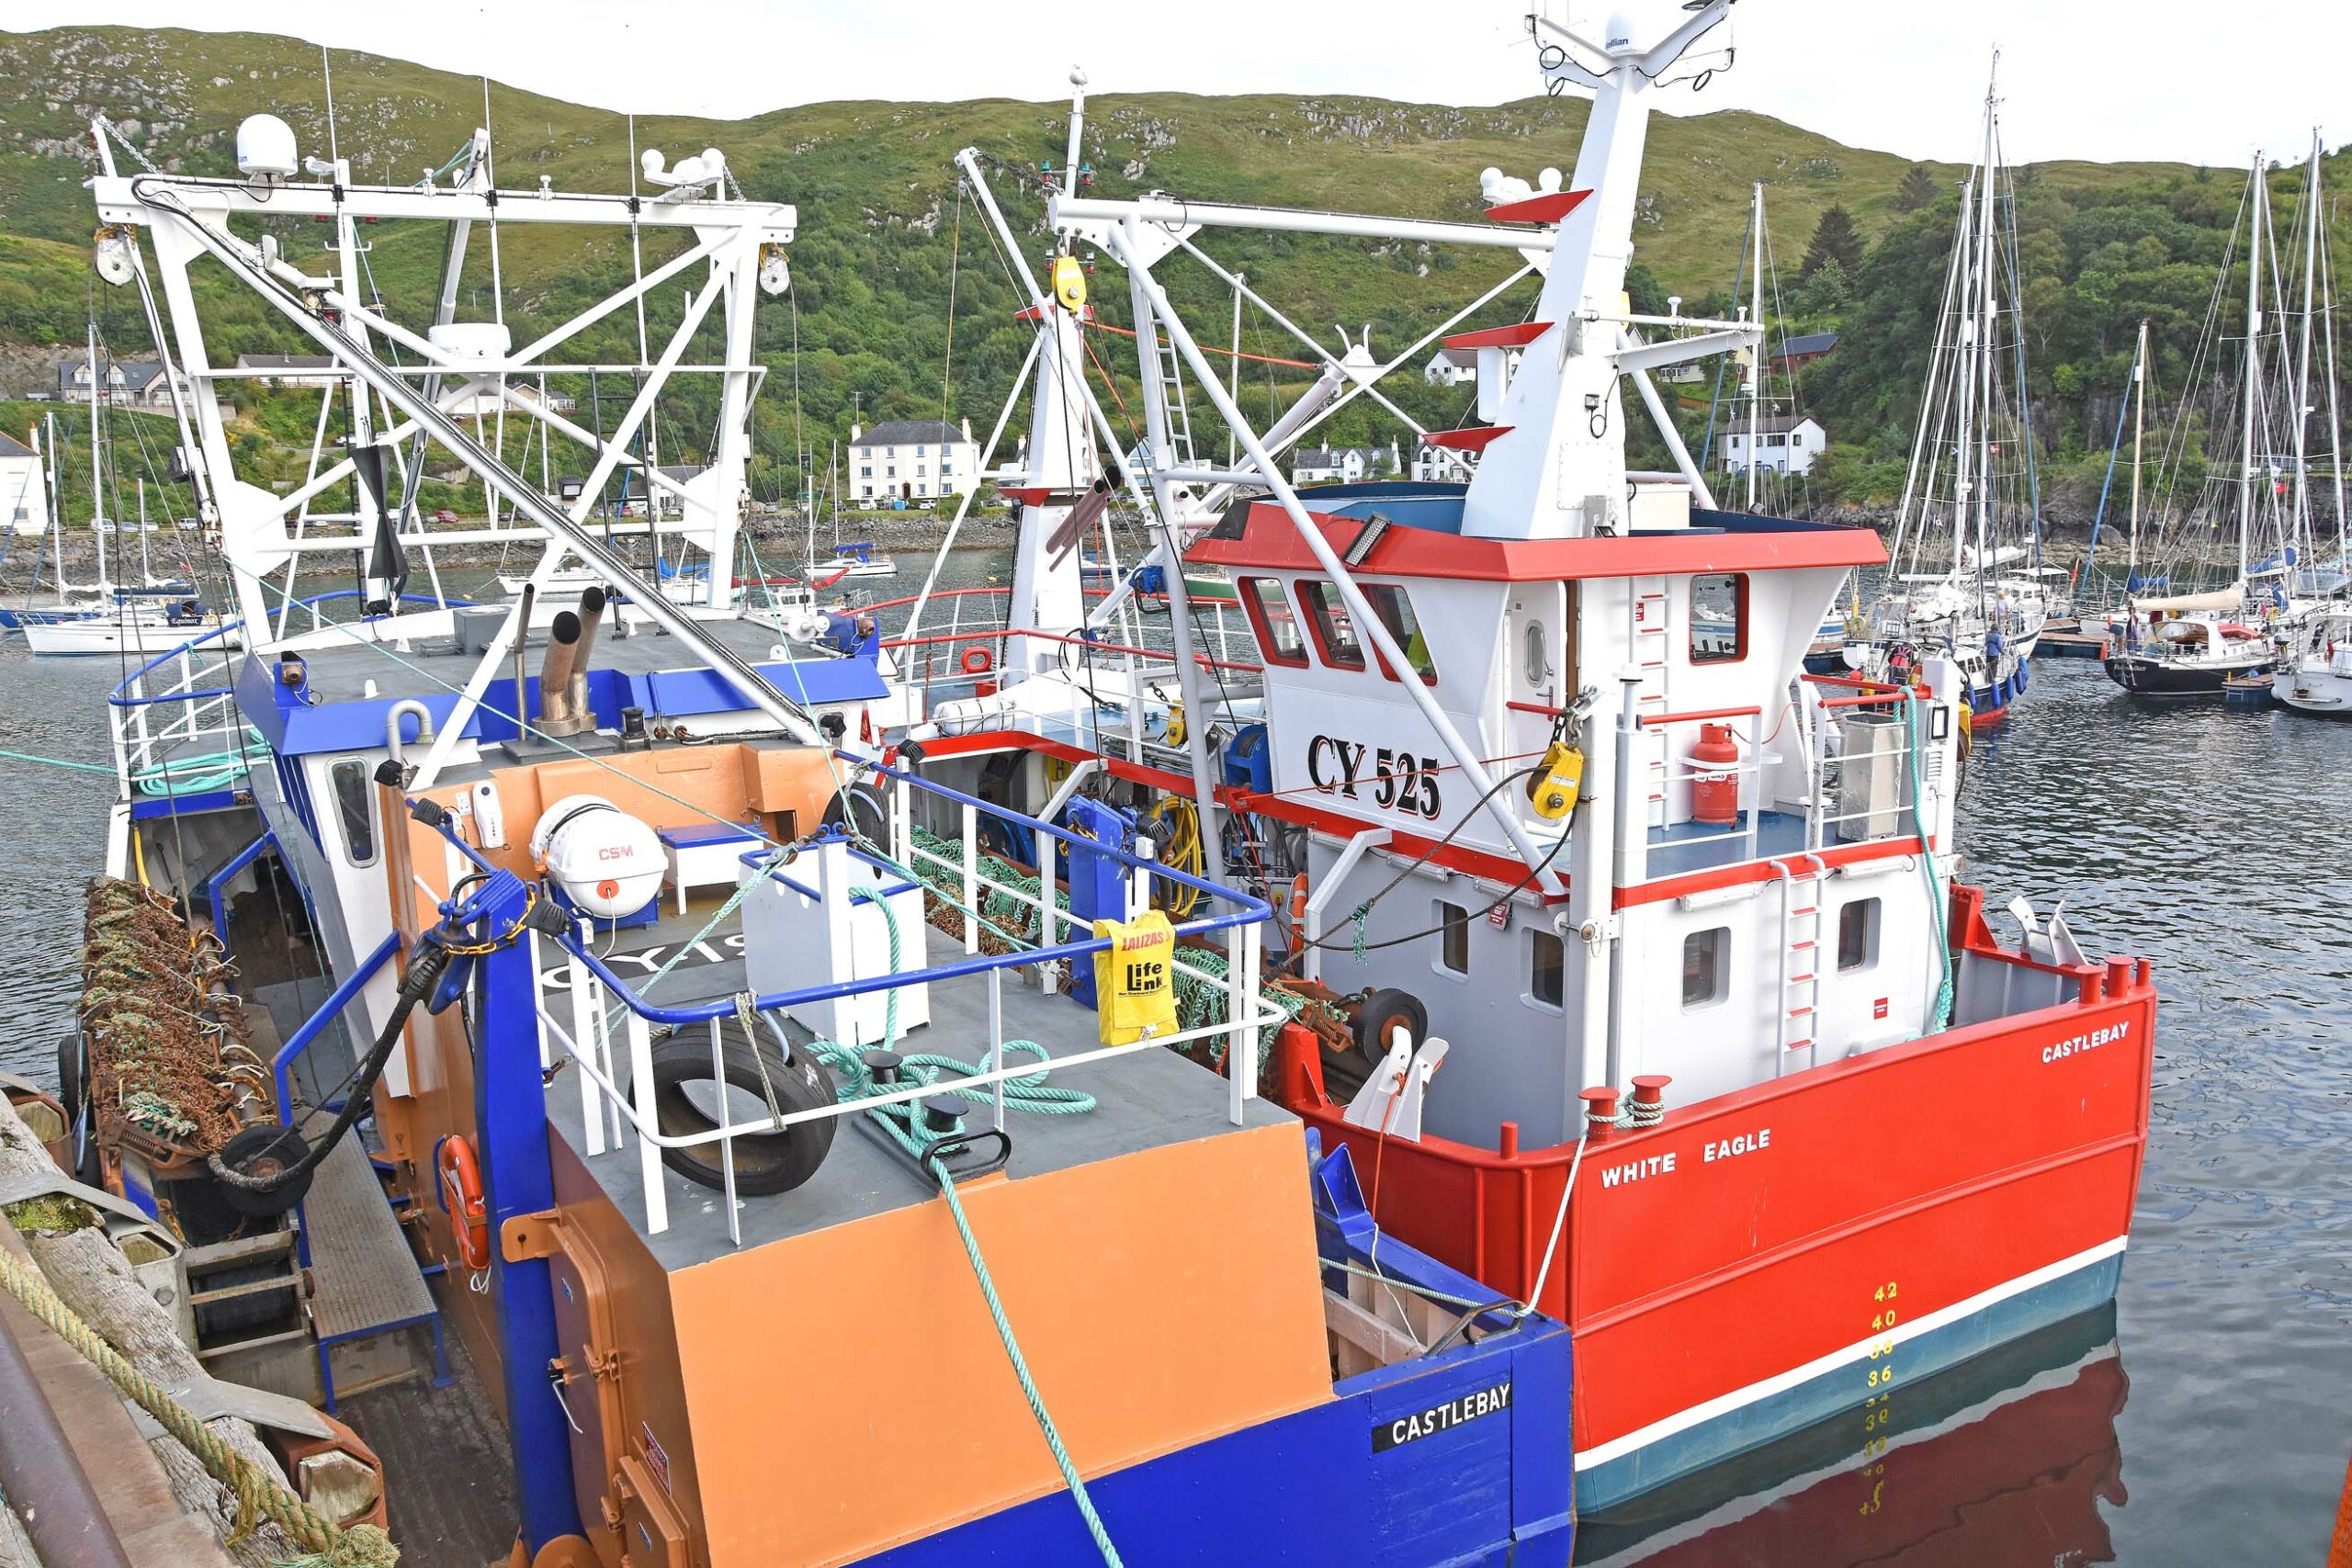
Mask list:
[[[1534,71],[1531,71],[1534,78]],[[626,120],[595,108],[492,85],[499,183],[626,188]],[[412,181],[442,165],[482,122],[475,78],[369,54],[334,56],[336,139],[362,179]],[[108,113],[141,153],[165,169],[230,174],[235,125],[256,110],[285,115],[306,153],[325,153],[325,82],[313,45],[252,33],[52,28],[0,33],[0,360],[28,346],[82,341],[85,315],[122,355],[146,348],[136,296],[92,280],[92,212],[80,181],[92,165],[89,115]],[[1534,176],[1573,162],[1585,103],[1529,99],[1498,108],[1446,108],[1378,99],[1207,99],[1190,94],[1105,94],[1089,106],[1087,160],[1094,193],[1164,188],[1204,200],[1350,207],[1409,216],[1477,216],[1477,174],[1498,165]],[[851,407],[868,421],[934,416],[950,364],[950,416],[985,425],[1018,367],[1025,329],[1002,263],[960,200],[950,158],[981,146],[1004,160],[1058,160],[1063,106],[983,99],[969,103],[842,101],[786,108],[753,120],[656,118],[637,122],[637,143],[673,160],[703,146],[727,150],[743,188],[800,205],[793,252],[795,308],[767,308],[760,353],[771,376],[760,402],[755,487],[797,487],[800,442],[818,451],[847,435]],[[1790,327],[1839,327],[1846,341],[1816,367],[1816,407],[1832,418],[1846,458],[1825,494],[1882,487],[1863,458],[1886,458],[1907,440],[1926,341],[1917,296],[1933,287],[1950,230],[1950,195],[1905,212],[1912,162],[1839,146],[1755,113],[1658,118],[1637,221],[1639,303],[1665,294],[1724,303],[1748,226],[1750,188],[1766,186],[1773,252]],[[1962,169],[1929,165],[1926,181],[1950,193]],[[2058,454],[2100,447],[2100,400],[2122,383],[2133,294],[2157,287],[2166,303],[2166,350],[2194,334],[2194,310],[2211,287],[2220,230],[2234,212],[2227,172],[2176,165],[2044,165],[2020,172],[2030,275],[2030,355],[2042,423]],[[2281,193],[2291,179],[2281,176]],[[1917,193],[1917,176],[1912,190]],[[1040,205],[1000,179],[1016,223]],[[1823,212],[1842,207],[1870,247],[1851,277],[1797,287],[1799,259]],[[287,228],[289,252],[315,235]],[[372,284],[390,308],[421,310],[440,263],[440,228],[386,223],[372,233]],[[477,230],[468,315],[489,315],[487,237]],[[675,240],[673,240],[675,244]],[[1334,343],[1334,324],[1371,327],[1374,350],[1399,350],[1498,280],[1510,259],[1491,252],[1430,252],[1324,242],[1294,235],[1209,235],[1228,266],[1294,320]],[[649,244],[647,266],[666,249]],[[527,331],[576,308],[628,275],[626,235],[583,247],[572,235],[503,233],[506,315]],[[2199,268],[2204,277],[2199,280]],[[1204,327],[1223,322],[1228,296],[1197,268],[1162,270]],[[1101,277],[1103,315],[1124,320],[1124,287]],[[2096,299],[2093,299],[2096,296]],[[219,289],[214,355],[299,348],[259,301]],[[2089,301],[2089,303],[2086,303]],[[2093,308],[2096,306],[2096,308]],[[1524,299],[1496,308],[1515,320]],[[675,292],[654,301],[652,329],[677,315]],[[2173,317],[2183,317],[2185,327]],[[590,331],[595,353],[633,353],[626,313]],[[2117,336],[2122,334],[2122,336]],[[795,353],[797,336],[797,353]],[[1279,331],[1251,313],[1251,353],[1296,357]],[[2122,346],[2122,348],[2119,348]],[[1265,376],[1275,386],[1263,386]],[[797,400],[795,400],[797,381]],[[1251,411],[1270,407],[1298,371],[1251,367]],[[586,388],[567,388],[574,395]],[[310,400],[315,407],[315,397]],[[1430,393],[1411,378],[1399,402],[1416,416],[1458,423],[1461,395]],[[666,456],[694,456],[696,400],[670,411]],[[1691,418],[1703,423],[1703,411]],[[263,421],[282,423],[282,421]],[[795,437],[797,423],[797,437]],[[1338,421],[1338,440],[1383,440],[1369,409]]]

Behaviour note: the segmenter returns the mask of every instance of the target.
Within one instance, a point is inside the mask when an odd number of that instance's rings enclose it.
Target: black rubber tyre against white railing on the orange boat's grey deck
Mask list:
[[[731,1023],[722,1030],[720,1041],[717,1065],[727,1074],[727,1088],[736,1091],[736,1095],[748,1095],[760,1107],[757,1114],[746,1112],[743,1121],[767,1119],[769,1088],[774,1088],[776,1105],[786,1114],[835,1103],[833,1074],[811,1053],[797,1051],[786,1063],[774,1044],[755,1044]],[[757,1056],[753,1056],[755,1051]],[[762,1065],[767,1067],[764,1079],[760,1074]],[[706,1030],[673,1034],[654,1046],[654,1119],[663,1138],[684,1138],[717,1128],[717,1121],[687,1093],[691,1084],[703,1084],[708,1091],[713,1084],[710,1074],[710,1034]],[[781,1133],[736,1133],[736,1192],[767,1197],[802,1185],[826,1164],[837,1126],[840,1117],[818,1117],[816,1121],[788,1126]],[[727,1190],[722,1161],[724,1145],[717,1140],[661,1152],[661,1164],[699,1187],[715,1187],[720,1192]]]

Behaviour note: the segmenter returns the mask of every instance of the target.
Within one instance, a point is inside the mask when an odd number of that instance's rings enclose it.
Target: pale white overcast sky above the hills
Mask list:
[[[1550,0],[1675,19],[1672,0]],[[1359,92],[1501,103],[1536,89],[1526,0],[9,0],[7,26],[278,31],[637,113],[753,115],[826,99],[1049,99],[1082,61],[1098,92]],[[1070,26],[1056,19],[1070,16]],[[1435,21],[1432,19],[1442,19]],[[1738,66],[1668,108],[1755,108],[1839,141],[1964,160],[2002,45],[2013,160],[2298,158],[2352,141],[2352,7],[2336,0],[1743,0]],[[2227,52],[2239,52],[2230,59]],[[2331,106],[2340,125],[2326,127]]]

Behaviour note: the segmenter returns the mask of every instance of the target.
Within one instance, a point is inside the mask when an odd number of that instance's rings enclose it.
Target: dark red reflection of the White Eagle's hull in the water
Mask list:
[[[2114,1305],[1578,1521],[1609,1568],[2110,1563],[2131,1382]]]

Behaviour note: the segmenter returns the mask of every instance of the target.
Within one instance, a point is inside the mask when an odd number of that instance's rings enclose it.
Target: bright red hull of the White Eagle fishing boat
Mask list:
[[[2049,971],[2079,1001],[1795,1072],[1646,1131],[1604,1131],[1536,1302],[1576,1335],[1578,1465],[1609,1462],[1851,1363],[1851,1403],[1924,1331],[2122,1251],[2147,1135],[2147,966]],[[1573,1145],[1519,1154],[1341,1121],[1289,1041],[1284,1095],[1348,1143],[1381,1225],[1524,1300]],[[1663,1476],[1651,1476],[1644,1486]]]

